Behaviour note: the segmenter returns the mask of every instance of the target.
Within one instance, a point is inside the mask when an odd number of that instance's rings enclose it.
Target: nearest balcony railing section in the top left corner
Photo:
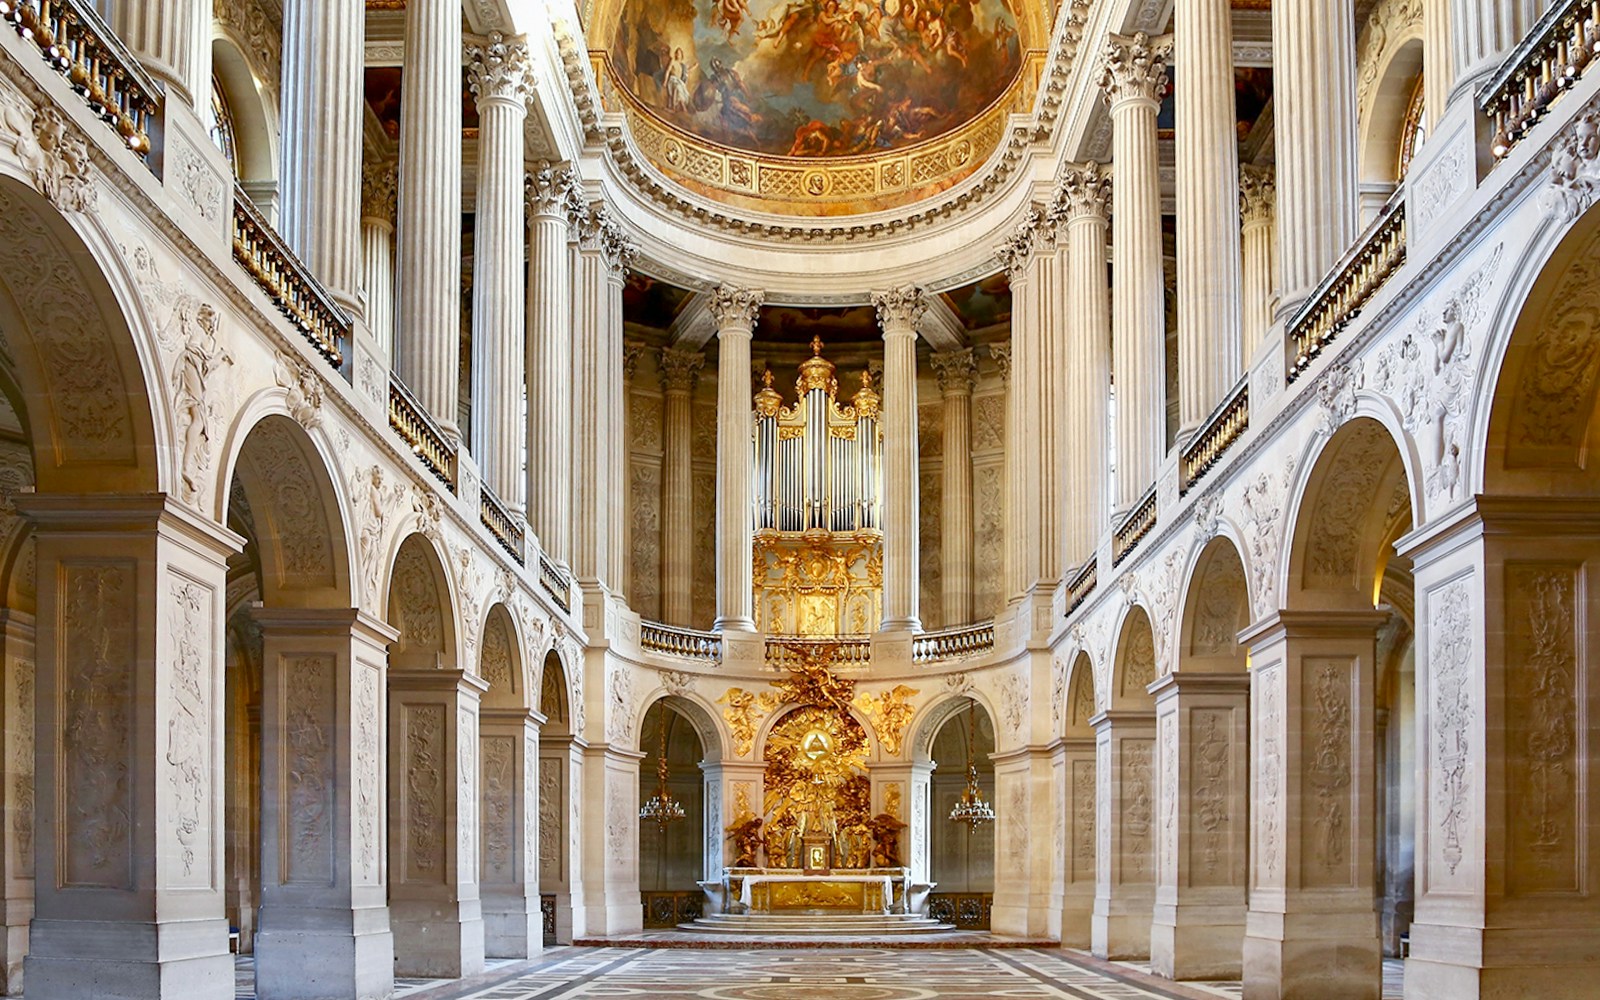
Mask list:
[[[0,0],[0,19],[32,42],[56,72],[150,163],[150,126],[162,88],[85,0]]]

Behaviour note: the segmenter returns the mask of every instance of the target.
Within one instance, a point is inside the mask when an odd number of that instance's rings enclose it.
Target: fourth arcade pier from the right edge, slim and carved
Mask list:
[[[1099,784],[1090,947],[1101,958],[1149,958],[1155,909],[1155,715],[1115,709],[1090,722]]]

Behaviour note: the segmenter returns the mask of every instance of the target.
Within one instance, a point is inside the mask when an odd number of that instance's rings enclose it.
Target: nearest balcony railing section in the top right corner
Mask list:
[[[1494,123],[1490,152],[1506,158],[1600,56],[1600,0],[1557,0],[1478,91]]]

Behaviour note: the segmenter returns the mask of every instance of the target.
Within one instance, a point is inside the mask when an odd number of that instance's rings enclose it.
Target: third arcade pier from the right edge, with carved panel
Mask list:
[[[1155,683],[1160,803],[1150,968],[1237,979],[1250,838],[1250,675],[1168,674]]]

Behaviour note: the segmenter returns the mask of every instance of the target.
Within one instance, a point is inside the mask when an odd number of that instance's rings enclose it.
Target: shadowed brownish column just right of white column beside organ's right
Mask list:
[[[944,510],[939,558],[944,579],[944,624],[973,621],[973,349],[930,358],[944,402]]]

